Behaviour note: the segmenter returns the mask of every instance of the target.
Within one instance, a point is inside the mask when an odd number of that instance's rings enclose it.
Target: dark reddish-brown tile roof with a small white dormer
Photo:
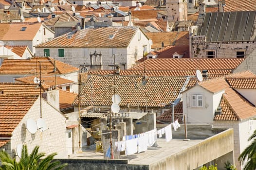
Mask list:
[[[183,54],[183,58],[189,58],[189,46],[168,46],[159,51],[157,58],[173,58],[173,54]]]

